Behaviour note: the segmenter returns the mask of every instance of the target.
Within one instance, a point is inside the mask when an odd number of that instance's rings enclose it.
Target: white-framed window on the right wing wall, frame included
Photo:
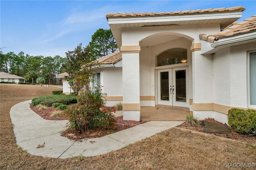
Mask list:
[[[248,52],[248,103],[256,107],[256,51]]]

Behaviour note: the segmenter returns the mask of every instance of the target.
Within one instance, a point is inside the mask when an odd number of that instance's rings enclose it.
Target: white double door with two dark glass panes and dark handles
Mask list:
[[[187,67],[158,70],[158,104],[189,107]]]

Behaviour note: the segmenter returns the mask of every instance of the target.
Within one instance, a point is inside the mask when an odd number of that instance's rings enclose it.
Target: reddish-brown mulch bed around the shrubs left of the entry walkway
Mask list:
[[[54,121],[61,121],[61,120],[68,120],[68,117],[66,115],[62,115],[60,117],[51,117],[51,114],[57,110],[55,107],[47,107],[45,110],[40,110],[37,107],[32,107],[30,105],[30,108],[32,111],[37,113],[40,117],[46,120],[54,120]],[[113,107],[105,107],[105,109],[111,109],[113,110]],[[115,117],[116,119],[116,127],[111,130],[100,130],[100,129],[95,129],[95,130],[90,130],[89,132],[85,132],[84,134],[80,134],[77,132],[72,132],[71,129],[67,129],[64,132],[61,133],[61,136],[66,136],[69,139],[72,140],[86,140],[88,138],[99,138],[114,132],[118,132],[120,130],[124,130],[126,128],[131,128],[137,125],[140,125],[142,123],[146,123],[146,121],[123,121],[123,117]]]

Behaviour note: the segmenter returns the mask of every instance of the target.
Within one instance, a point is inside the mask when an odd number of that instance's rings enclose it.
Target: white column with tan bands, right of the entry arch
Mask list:
[[[193,113],[199,119],[214,117],[213,112],[213,58],[201,55],[201,43],[191,45]]]

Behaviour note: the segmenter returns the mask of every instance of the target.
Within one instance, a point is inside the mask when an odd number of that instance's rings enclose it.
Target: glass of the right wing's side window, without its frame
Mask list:
[[[256,52],[250,53],[250,105],[256,105]]]

